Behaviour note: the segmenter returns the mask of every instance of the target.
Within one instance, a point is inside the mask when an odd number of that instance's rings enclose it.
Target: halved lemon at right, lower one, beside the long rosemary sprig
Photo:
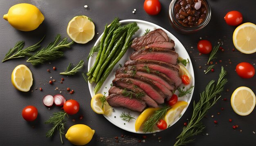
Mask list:
[[[255,107],[256,97],[250,88],[241,86],[233,92],[230,102],[238,115],[249,115]]]

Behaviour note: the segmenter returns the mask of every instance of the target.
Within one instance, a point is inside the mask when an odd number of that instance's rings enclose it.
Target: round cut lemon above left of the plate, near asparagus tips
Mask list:
[[[94,37],[95,26],[87,16],[76,16],[67,25],[67,34],[74,42],[85,44]]]

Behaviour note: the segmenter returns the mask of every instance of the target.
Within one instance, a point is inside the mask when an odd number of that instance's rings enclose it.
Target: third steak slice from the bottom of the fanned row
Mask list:
[[[115,86],[119,82],[123,82],[123,84],[132,84],[132,86],[141,88],[149,97],[155,100],[155,102],[157,102],[158,104],[164,103],[164,97],[158,91],[156,91],[155,88],[153,88],[149,84],[146,84],[145,82],[141,82],[139,80],[128,78],[128,77],[115,78],[112,82],[113,82],[113,85]]]

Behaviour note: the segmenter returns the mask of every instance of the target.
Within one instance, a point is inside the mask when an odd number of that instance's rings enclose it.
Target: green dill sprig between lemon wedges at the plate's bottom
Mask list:
[[[160,108],[159,110],[155,111],[153,113],[153,115],[148,117],[148,119],[144,123],[143,132],[144,133],[147,133],[147,132],[152,133],[152,132],[154,132],[154,126],[157,124],[159,119],[162,119],[164,117],[164,115],[166,115],[166,112],[170,108],[171,108],[170,106],[164,106],[163,108]]]

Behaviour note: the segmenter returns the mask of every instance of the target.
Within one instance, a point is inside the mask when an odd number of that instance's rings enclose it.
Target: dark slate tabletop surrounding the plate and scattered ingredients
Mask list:
[[[66,49],[65,57],[45,62],[45,64],[36,67],[27,63],[25,58],[9,60],[0,63],[0,145],[1,146],[45,146],[45,145],[62,145],[58,133],[54,137],[46,138],[45,133],[51,127],[44,124],[44,122],[52,115],[53,112],[60,111],[56,106],[48,110],[42,102],[45,95],[54,95],[62,91],[66,99],[75,99],[80,103],[80,111],[78,114],[70,116],[67,120],[66,130],[74,124],[86,124],[96,131],[92,141],[88,145],[92,146],[111,146],[111,145],[173,145],[175,137],[182,131],[183,123],[187,122],[187,118],[191,117],[193,107],[189,105],[188,110],[182,119],[179,120],[174,126],[168,130],[153,134],[145,134],[147,138],[145,142],[139,143],[143,140],[143,134],[135,134],[126,132],[117,126],[108,122],[102,115],[97,115],[90,108],[90,93],[88,84],[83,80],[81,73],[66,77],[63,84],[59,81],[63,77],[58,73],[64,71],[66,66],[72,62],[77,64],[79,60],[85,60],[83,72],[87,71],[88,61],[86,60],[90,48],[93,46],[99,35],[103,32],[106,23],[110,23],[115,17],[120,20],[126,19],[139,19],[148,22],[153,22],[164,29],[170,31],[175,35],[180,42],[185,46],[191,57],[194,72],[195,72],[195,91],[193,100],[198,101],[200,93],[204,91],[205,86],[210,80],[217,80],[220,73],[221,66],[224,66],[228,72],[227,78],[229,80],[225,91],[222,93],[221,98],[227,98],[227,101],[219,100],[218,103],[207,114],[207,117],[202,120],[206,125],[204,132],[195,138],[193,143],[189,146],[225,146],[225,145],[246,145],[253,146],[256,143],[256,111],[254,110],[248,116],[239,116],[231,108],[230,97],[232,92],[239,86],[247,86],[256,92],[256,77],[251,79],[242,79],[235,72],[235,66],[239,62],[256,63],[256,56],[254,54],[243,54],[239,51],[232,51],[234,48],[232,42],[232,34],[236,27],[228,26],[223,17],[228,11],[238,10],[243,14],[243,22],[256,23],[255,5],[254,0],[209,0],[212,9],[211,21],[202,31],[192,34],[183,35],[177,33],[168,21],[168,7],[171,0],[160,0],[162,10],[159,15],[150,16],[146,14],[143,9],[143,0],[0,0],[0,15],[8,12],[8,9],[14,4],[18,3],[34,4],[40,9],[45,16],[43,23],[35,31],[22,32],[13,29],[7,21],[0,19],[0,58],[4,58],[7,51],[14,46],[19,40],[25,40],[25,46],[30,46],[38,42],[43,35],[46,35],[42,42],[42,46],[46,46],[49,42],[54,40],[56,34],[60,33],[63,37],[67,37],[66,28],[67,23],[76,15],[87,15],[92,18],[95,24],[95,36],[87,44],[74,44],[71,49]],[[83,6],[88,5],[88,9]],[[137,9],[133,14],[133,9]],[[99,34],[97,34],[99,33]],[[198,55],[196,44],[202,39],[207,39],[213,45],[217,42],[223,42],[224,52],[218,52],[218,62],[215,71],[212,73],[204,74],[207,68],[204,64],[207,62],[208,55]],[[222,60],[222,63],[219,63]],[[230,61],[229,61],[230,60]],[[231,62],[231,64],[229,64]],[[11,84],[11,72],[19,65],[25,64],[33,73],[33,86],[27,93],[17,91]],[[56,66],[56,71],[47,72]],[[202,69],[199,69],[202,66]],[[254,65],[255,67],[255,65]],[[55,79],[56,82],[52,85],[48,84],[50,77]],[[43,88],[43,92],[35,90],[35,88]],[[58,87],[60,90],[54,90]],[[73,95],[67,94],[65,90],[67,87],[74,89]],[[228,89],[229,91],[226,91]],[[21,115],[22,109],[27,105],[34,105],[38,108],[38,118],[34,122],[26,122]],[[221,111],[221,108],[224,108]],[[220,113],[218,115],[217,113]],[[79,120],[79,116],[83,115],[83,119]],[[211,115],[214,115],[211,118]],[[117,115],[118,116],[118,115]],[[229,122],[229,118],[233,121]],[[72,122],[75,119],[75,122]],[[217,120],[218,124],[213,121]],[[234,130],[233,125],[239,125],[239,128]],[[34,127],[34,128],[32,128]],[[242,130],[242,132],[240,132]],[[206,136],[206,133],[209,135]],[[124,137],[121,137],[124,135]],[[119,137],[118,141],[114,137]],[[162,137],[159,142],[159,137]],[[65,139],[63,135],[64,145],[72,145]]]

